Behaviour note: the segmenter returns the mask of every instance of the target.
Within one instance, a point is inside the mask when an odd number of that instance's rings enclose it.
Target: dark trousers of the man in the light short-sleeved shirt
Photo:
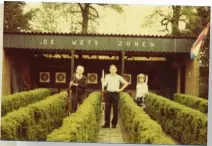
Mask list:
[[[110,113],[111,105],[113,105],[113,119],[112,125],[116,126],[118,123],[118,102],[119,93],[107,91],[106,103],[105,103],[105,126],[110,126]]]

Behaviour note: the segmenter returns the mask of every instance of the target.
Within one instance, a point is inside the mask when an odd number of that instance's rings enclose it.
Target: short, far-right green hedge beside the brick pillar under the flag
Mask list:
[[[175,93],[173,100],[175,102],[178,102],[178,103],[188,106],[190,108],[201,111],[205,114],[208,113],[208,100],[207,99],[203,99],[201,97],[187,95],[187,94]]]

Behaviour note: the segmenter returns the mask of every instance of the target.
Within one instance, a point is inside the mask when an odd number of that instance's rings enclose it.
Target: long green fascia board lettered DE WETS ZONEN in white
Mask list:
[[[4,48],[189,53],[194,38],[4,33]]]

